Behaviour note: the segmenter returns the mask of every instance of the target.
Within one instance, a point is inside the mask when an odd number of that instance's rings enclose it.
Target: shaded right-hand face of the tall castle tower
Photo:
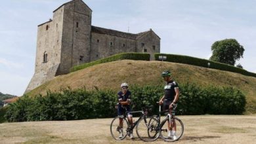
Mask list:
[[[60,67],[56,75],[89,62],[92,10],[81,0],[64,4]],[[56,9],[58,10],[58,9]],[[54,10],[54,12],[56,11]]]

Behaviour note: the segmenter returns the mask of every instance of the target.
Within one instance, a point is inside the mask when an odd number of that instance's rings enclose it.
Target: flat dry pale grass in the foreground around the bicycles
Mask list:
[[[184,134],[175,143],[256,143],[256,115],[179,116]],[[0,124],[0,143],[145,143],[114,140],[112,118]],[[167,143],[162,139],[150,143]]]

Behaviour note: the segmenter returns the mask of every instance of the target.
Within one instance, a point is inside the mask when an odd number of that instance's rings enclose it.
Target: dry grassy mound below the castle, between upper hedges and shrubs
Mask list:
[[[119,60],[116,62],[102,63],[81,69],[68,75],[60,75],[52,81],[35,88],[28,94],[45,94],[47,90],[59,91],[61,88],[82,88],[119,90],[121,82],[129,84],[163,84],[161,72],[169,69],[173,79],[178,83],[194,82],[200,86],[234,86],[244,92],[247,100],[247,113],[256,113],[256,78],[207,69],[181,63],[159,62],[159,61],[135,61]]]

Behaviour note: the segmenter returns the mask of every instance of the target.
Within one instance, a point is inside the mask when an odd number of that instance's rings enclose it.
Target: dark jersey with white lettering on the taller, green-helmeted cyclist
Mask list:
[[[175,89],[179,88],[177,82],[175,81],[169,81],[165,85],[165,98],[168,101],[173,101],[175,98],[176,92]]]

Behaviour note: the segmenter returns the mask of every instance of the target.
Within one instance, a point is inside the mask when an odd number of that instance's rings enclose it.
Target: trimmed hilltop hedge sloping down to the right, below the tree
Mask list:
[[[191,56],[182,56],[182,55],[175,55],[175,54],[155,54],[155,60],[159,60],[159,56],[166,56],[167,62],[175,62],[175,63],[186,63],[190,65],[197,65],[200,67],[208,67],[208,63],[210,63],[211,69],[219,69],[223,71],[231,71],[234,73],[241,73],[242,75],[248,75],[251,77],[256,77],[256,73],[251,73],[249,71],[246,71],[244,69],[241,69],[239,67],[234,67],[232,65],[227,65],[224,63],[219,62],[213,62],[210,60],[200,59],[200,58],[194,58]]]

